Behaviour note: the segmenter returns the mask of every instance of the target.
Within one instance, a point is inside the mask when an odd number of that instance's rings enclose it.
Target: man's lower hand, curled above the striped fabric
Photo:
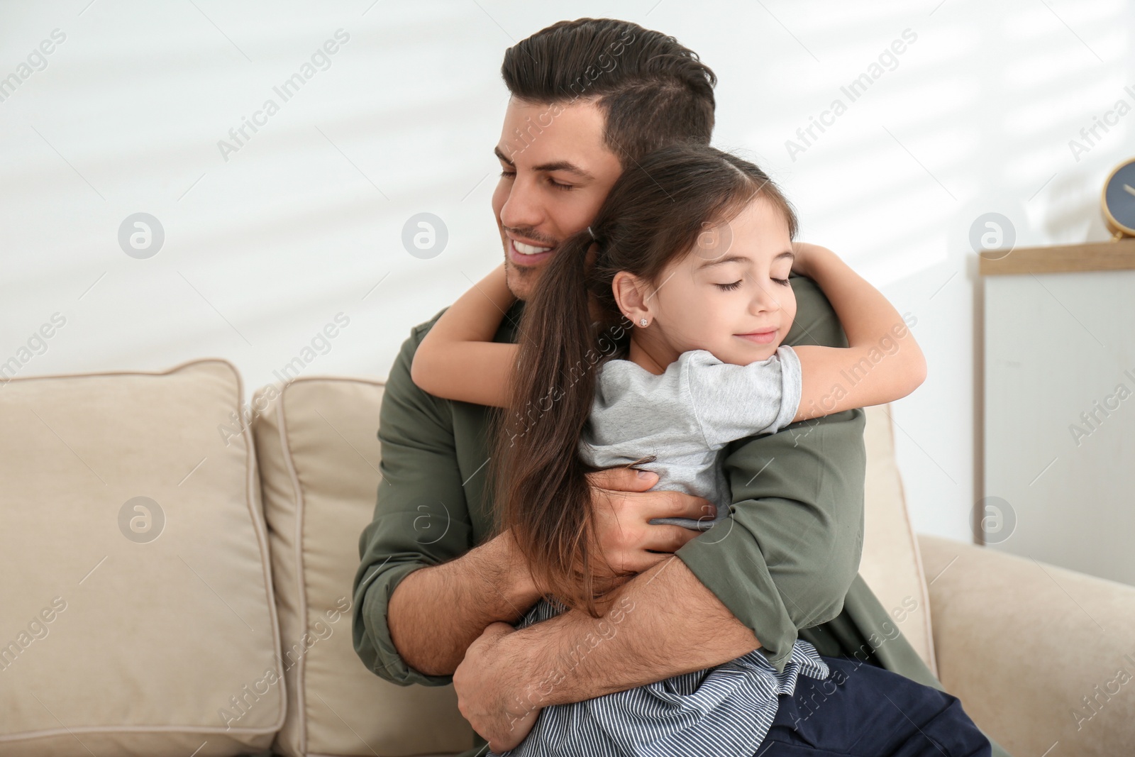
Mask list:
[[[516,661],[502,644],[514,632],[507,623],[493,623],[469,645],[465,658],[453,673],[457,709],[495,752],[523,741],[540,714],[540,707],[515,689]]]

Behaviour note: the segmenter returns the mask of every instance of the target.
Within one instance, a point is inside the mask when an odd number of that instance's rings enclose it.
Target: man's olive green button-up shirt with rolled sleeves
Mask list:
[[[790,280],[797,316],[784,343],[847,346],[819,287]],[[522,308],[508,310],[496,342],[515,342]],[[403,685],[452,679],[424,675],[398,655],[386,621],[394,589],[411,572],[495,536],[486,463],[490,418],[501,411],[435,397],[410,378],[414,351],[439,316],[411,330],[386,382],[378,429],[384,481],[359,540],[354,579],[355,651],[372,672]],[[723,465],[732,515],[675,554],[753,630],[777,671],[801,638],[822,655],[855,656],[942,689],[858,574],[864,420],[863,410],[849,410],[731,443]],[[478,737],[477,746],[484,743]]]

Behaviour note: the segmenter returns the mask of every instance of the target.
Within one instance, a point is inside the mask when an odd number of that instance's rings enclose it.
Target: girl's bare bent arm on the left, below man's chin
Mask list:
[[[502,263],[437,319],[418,345],[410,378],[437,397],[506,406],[518,347],[493,337],[515,301]]]

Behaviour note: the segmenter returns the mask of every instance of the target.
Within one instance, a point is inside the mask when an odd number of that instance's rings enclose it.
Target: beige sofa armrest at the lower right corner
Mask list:
[[[1135,587],[951,539],[918,541],[939,678],[974,722],[1018,756],[1130,754]]]

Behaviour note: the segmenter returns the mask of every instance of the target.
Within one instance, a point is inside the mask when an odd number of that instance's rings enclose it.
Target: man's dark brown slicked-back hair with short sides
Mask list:
[[[553,24],[508,48],[501,76],[529,103],[595,101],[606,117],[604,142],[624,169],[675,142],[709,144],[717,77],[674,37],[631,22]]]

